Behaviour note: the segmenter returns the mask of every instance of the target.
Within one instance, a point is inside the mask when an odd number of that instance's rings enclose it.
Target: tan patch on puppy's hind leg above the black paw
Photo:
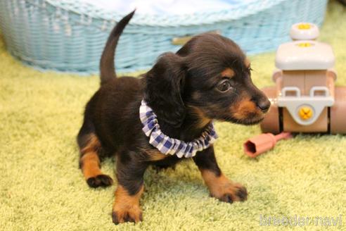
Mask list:
[[[85,180],[88,180],[90,177],[96,177],[96,175],[101,175],[100,169],[100,159],[96,152],[89,152],[84,154],[82,158],[80,158],[82,163],[82,172]]]

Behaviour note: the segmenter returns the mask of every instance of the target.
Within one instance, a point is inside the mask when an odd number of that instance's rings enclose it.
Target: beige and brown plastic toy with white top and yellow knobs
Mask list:
[[[271,109],[261,123],[263,132],[346,133],[346,87],[335,87],[335,57],[331,46],[316,42],[312,23],[291,27],[293,42],[276,51],[275,87],[262,89]]]

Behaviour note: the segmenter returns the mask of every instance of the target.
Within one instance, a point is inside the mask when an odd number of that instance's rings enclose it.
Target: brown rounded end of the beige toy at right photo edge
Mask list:
[[[346,87],[335,87],[335,103],[331,107],[331,133],[346,134]]]

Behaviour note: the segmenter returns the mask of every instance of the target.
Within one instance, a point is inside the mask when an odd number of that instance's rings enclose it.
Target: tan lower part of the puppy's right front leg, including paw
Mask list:
[[[222,173],[217,176],[210,170],[200,170],[205,185],[207,185],[210,194],[221,201],[245,201],[248,197],[243,185],[231,182]]]

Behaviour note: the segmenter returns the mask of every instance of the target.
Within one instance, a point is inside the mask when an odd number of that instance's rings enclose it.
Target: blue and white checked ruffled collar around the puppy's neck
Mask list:
[[[193,139],[191,142],[184,142],[168,137],[160,130],[157,116],[144,100],[142,100],[141,106],[139,107],[139,118],[143,125],[143,132],[150,138],[149,143],[165,155],[170,154],[177,155],[179,158],[183,156],[190,158],[195,156],[197,151],[207,149],[217,139],[217,134],[212,123],[210,123],[209,127],[207,127],[199,138]]]

